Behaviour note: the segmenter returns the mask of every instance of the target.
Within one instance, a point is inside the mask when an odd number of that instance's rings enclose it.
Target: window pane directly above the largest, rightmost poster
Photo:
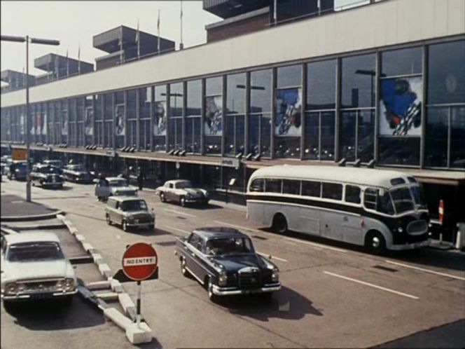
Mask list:
[[[421,47],[383,52],[381,76],[422,74],[422,52]]]

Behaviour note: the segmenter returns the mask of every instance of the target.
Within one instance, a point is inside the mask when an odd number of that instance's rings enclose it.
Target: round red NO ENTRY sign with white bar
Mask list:
[[[128,247],[123,254],[123,272],[134,281],[151,277],[157,269],[158,256],[152,245],[137,242]]]

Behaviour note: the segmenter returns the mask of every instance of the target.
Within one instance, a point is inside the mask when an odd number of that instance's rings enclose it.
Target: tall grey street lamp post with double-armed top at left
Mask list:
[[[31,177],[29,172],[31,170],[29,163],[29,41],[31,43],[39,43],[41,45],[60,45],[58,40],[37,39],[27,36],[9,36],[2,35],[1,41],[13,41],[18,43],[26,43],[26,201],[31,202]]]

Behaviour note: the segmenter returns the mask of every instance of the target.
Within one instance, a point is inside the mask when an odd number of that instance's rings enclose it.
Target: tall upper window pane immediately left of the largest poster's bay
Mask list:
[[[343,108],[375,106],[375,55],[342,58]]]

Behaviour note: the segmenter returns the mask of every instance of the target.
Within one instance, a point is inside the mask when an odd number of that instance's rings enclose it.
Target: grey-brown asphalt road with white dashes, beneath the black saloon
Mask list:
[[[1,194],[24,196],[24,187],[24,183],[4,182]],[[104,203],[97,202],[92,185],[32,190],[33,200],[68,212],[113,271],[120,268],[127,244],[155,245],[160,279],[143,282],[142,313],[157,347],[393,348],[389,345],[395,347],[396,340],[398,346],[415,346],[412,343],[420,343],[426,334],[444,336],[438,330],[441,326],[465,318],[461,252],[424,249],[373,256],[342,243],[270,233],[250,224],[244,210],[179,207],[160,203],[153,191],[146,190],[140,196],[157,215],[155,231],[150,233],[125,233],[118,226],[107,226]],[[282,291],[271,301],[251,296],[211,303],[198,282],[181,275],[174,256],[175,238],[200,226],[235,226],[248,233],[258,252],[271,255],[281,269]],[[135,285],[124,287],[135,299]],[[460,326],[451,326],[447,336],[454,340],[428,343],[463,348],[463,333]],[[413,342],[401,345],[402,338]],[[73,341],[69,348],[79,346]]]

